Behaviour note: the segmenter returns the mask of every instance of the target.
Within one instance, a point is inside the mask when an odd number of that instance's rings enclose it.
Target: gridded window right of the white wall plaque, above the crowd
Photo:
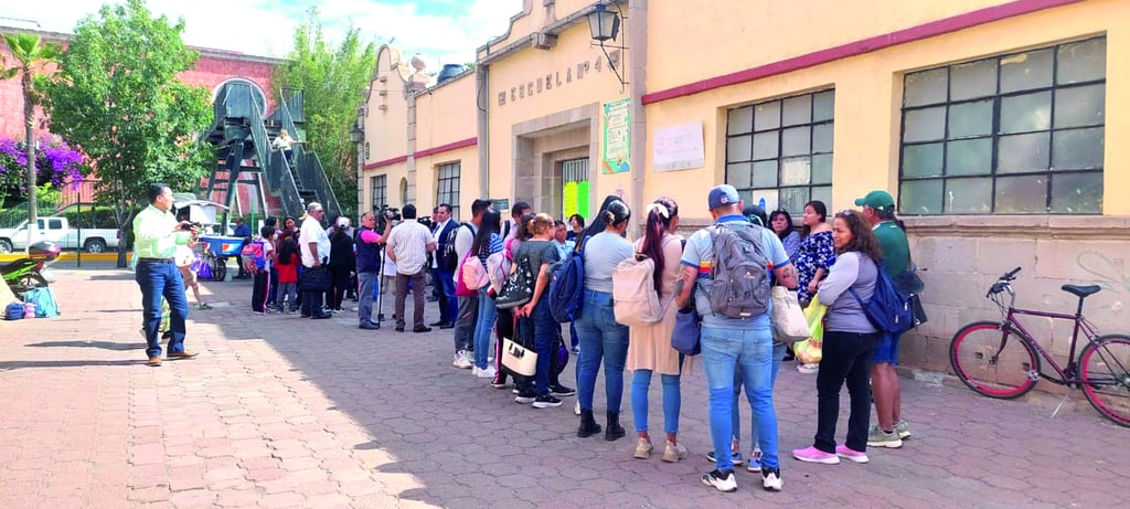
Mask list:
[[[810,200],[832,201],[835,90],[803,94],[730,110],[725,181],[746,204],[793,215]]]

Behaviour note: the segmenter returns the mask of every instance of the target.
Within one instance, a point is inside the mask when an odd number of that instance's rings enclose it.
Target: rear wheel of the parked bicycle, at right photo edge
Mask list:
[[[1079,354],[1083,394],[1098,413],[1130,428],[1130,337],[1101,336]]]

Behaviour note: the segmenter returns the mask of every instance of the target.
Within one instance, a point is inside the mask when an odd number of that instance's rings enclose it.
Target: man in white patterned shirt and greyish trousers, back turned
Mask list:
[[[392,228],[385,252],[397,264],[397,331],[405,331],[405,299],[408,282],[412,283],[412,331],[429,333],[424,325],[424,270],[427,270],[427,253],[435,251],[432,231],[416,221],[416,206],[406,205],[401,210],[405,221]]]

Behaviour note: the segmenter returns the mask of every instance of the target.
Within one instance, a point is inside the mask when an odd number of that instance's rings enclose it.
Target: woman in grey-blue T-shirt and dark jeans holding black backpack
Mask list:
[[[557,321],[549,314],[548,299],[541,299],[549,291],[549,266],[559,258],[557,247],[553,243],[554,218],[548,214],[538,214],[530,219],[527,226],[533,235],[532,239],[522,242],[515,256],[515,267],[522,264],[529,265],[530,269],[537,273],[533,284],[533,297],[525,305],[514,309],[514,314],[519,317],[519,327],[533,328],[533,346],[538,352],[538,366],[533,377],[533,392],[518,394],[515,398],[519,403],[533,403],[534,408],[550,408],[562,406],[562,400],[555,397],[549,389],[549,361],[553,359],[553,348],[560,343],[557,337],[559,328]],[[523,319],[524,317],[524,319]]]

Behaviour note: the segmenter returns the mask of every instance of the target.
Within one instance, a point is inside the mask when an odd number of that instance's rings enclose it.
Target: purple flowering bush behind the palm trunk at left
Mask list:
[[[23,144],[0,138],[0,206],[27,199],[27,153]],[[82,154],[58,137],[40,139],[35,152],[35,184],[50,189],[77,187],[89,174]]]

